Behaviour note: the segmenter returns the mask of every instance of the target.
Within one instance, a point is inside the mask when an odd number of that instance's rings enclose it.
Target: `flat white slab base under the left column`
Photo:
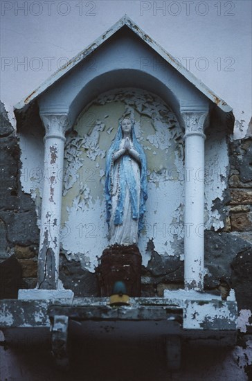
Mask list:
[[[38,288],[33,289],[21,289],[18,292],[17,299],[21,300],[55,300],[55,299],[67,299],[67,301],[73,300],[72,290],[40,290]]]

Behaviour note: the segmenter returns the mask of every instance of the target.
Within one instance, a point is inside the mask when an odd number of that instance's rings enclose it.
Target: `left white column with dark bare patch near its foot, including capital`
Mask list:
[[[37,287],[56,290],[59,280],[64,135],[69,129],[69,118],[67,114],[42,114],[41,117],[46,135]]]

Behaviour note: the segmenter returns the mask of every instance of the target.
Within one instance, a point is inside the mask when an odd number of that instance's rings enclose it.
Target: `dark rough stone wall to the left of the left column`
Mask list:
[[[23,277],[21,287],[30,288],[36,284],[39,229],[34,202],[30,195],[21,190],[20,149],[17,134],[10,125],[3,104],[1,103],[0,106],[1,294],[3,293],[4,297],[7,292],[10,296],[11,287],[12,296],[17,297],[17,290],[20,287],[20,281],[16,276],[18,268],[21,269]]]

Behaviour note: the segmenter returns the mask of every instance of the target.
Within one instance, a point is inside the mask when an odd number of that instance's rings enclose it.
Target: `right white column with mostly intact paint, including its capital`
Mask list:
[[[206,112],[183,112],[185,139],[185,288],[204,289],[204,127]]]

